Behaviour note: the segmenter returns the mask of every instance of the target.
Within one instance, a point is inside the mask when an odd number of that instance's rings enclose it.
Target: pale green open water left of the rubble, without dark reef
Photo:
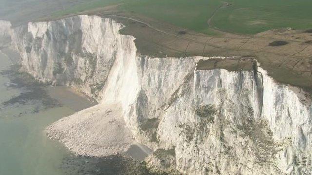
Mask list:
[[[0,71],[10,69],[10,59],[0,53]],[[66,106],[44,108],[33,99],[22,104],[4,102],[27,93],[25,87],[12,83],[9,75],[0,74],[0,175],[63,175],[61,162],[70,153],[50,140],[44,128],[74,111]]]

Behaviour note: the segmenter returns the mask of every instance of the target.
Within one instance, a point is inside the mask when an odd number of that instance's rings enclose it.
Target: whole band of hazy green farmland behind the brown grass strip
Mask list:
[[[0,17],[20,23],[117,4],[118,10],[207,34],[211,34],[208,20],[211,28],[241,34],[312,28],[309,0],[1,0]]]

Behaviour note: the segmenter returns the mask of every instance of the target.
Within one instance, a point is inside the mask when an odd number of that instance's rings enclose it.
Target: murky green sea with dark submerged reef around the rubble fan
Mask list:
[[[49,124],[93,104],[64,88],[25,84],[12,67],[0,52],[0,175],[148,175],[121,155],[81,157],[47,138]],[[48,91],[61,95],[52,98]]]

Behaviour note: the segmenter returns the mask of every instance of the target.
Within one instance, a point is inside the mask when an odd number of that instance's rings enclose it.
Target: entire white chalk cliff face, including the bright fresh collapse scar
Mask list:
[[[78,86],[98,107],[120,104],[135,140],[155,150],[146,159],[154,171],[312,174],[308,94],[257,66],[204,70],[198,61],[213,58],[140,56],[135,38],[120,35],[121,28],[111,19],[78,16],[6,30],[24,71]]]

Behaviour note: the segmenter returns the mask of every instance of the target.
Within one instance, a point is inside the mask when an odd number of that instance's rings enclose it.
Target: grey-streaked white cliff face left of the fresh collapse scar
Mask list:
[[[136,53],[134,38],[121,36],[121,27],[110,19],[78,16],[14,28],[11,39],[24,71],[43,82],[77,86],[99,99],[115,58]]]

